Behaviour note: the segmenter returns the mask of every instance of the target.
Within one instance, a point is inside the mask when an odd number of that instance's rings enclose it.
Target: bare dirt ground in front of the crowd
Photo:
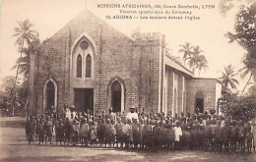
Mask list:
[[[1,120],[0,120],[1,121]],[[0,127],[0,162],[15,161],[210,161],[255,162],[256,153],[192,150],[145,150],[28,144],[24,128]]]

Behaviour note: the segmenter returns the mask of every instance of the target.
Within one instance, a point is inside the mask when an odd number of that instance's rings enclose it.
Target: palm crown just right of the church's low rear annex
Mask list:
[[[234,67],[228,65],[227,67],[224,67],[224,72],[221,79],[221,82],[223,84],[224,91],[227,91],[228,85],[231,86],[231,88],[236,89],[236,84],[238,85],[239,82],[234,79],[234,77],[237,75],[237,73],[234,72]]]

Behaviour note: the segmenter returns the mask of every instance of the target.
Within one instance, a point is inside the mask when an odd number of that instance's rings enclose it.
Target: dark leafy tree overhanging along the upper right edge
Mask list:
[[[249,75],[241,94],[243,94],[248,83],[254,77],[256,78],[256,3],[250,6],[241,6],[236,15],[236,22],[233,32],[226,32],[225,36],[229,42],[238,42],[247,53],[242,59],[244,67],[239,71],[241,78],[244,79]]]

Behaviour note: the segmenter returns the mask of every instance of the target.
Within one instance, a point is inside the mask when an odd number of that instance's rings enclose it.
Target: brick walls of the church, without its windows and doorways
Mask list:
[[[89,42],[93,53],[93,77],[74,78],[74,58],[82,40]],[[130,106],[145,108],[147,112],[163,111],[163,74],[165,65],[164,36],[149,33],[140,39],[132,39],[113,27],[108,26],[94,14],[84,11],[62,27],[53,36],[43,41],[39,53],[32,57],[30,82],[29,113],[40,114],[45,108],[45,82],[54,81],[57,90],[55,109],[63,111],[63,105],[74,105],[74,88],[94,88],[94,110],[107,110],[111,81],[119,81],[124,87],[124,110]],[[84,57],[83,57],[84,59]],[[213,107],[215,100],[214,80],[190,80],[191,77],[178,71],[168,72],[168,95],[166,107],[171,111],[174,87],[177,88],[177,108],[181,107],[182,76],[185,76],[186,105],[193,106],[193,95],[204,89],[206,109]],[[189,81],[188,81],[189,80]],[[160,106],[160,107],[159,107]],[[181,113],[181,110],[177,111]]]

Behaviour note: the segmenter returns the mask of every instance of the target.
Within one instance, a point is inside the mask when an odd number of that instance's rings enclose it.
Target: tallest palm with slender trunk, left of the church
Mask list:
[[[22,59],[23,52],[24,52],[24,46],[25,43],[27,43],[28,46],[31,45],[32,40],[34,39],[34,34],[35,31],[31,29],[32,24],[30,23],[29,20],[17,22],[19,27],[15,27],[15,33],[13,34],[14,37],[17,37],[15,44],[19,45],[20,48],[20,59],[21,61],[25,61]],[[15,77],[15,84],[18,78],[19,70],[20,70],[20,61],[17,62],[17,72],[16,72],[16,77]]]

